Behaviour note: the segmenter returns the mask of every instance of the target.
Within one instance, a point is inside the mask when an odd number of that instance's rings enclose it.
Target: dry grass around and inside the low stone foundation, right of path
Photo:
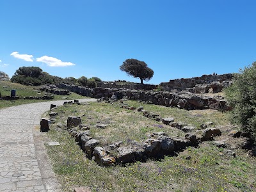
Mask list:
[[[141,106],[135,101],[127,104]],[[219,111],[143,107],[161,117],[173,116],[175,122],[191,124],[196,129],[207,121],[228,125],[228,114]],[[61,106],[56,112],[59,114],[56,123],[63,125],[67,124],[68,116],[81,116],[101,146],[120,140],[124,145],[131,140],[145,141],[148,134],[156,131],[164,131],[170,137],[184,136],[184,132],[146,118],[138,111],[120,108],[118,103]],[[99,129],[97,124],[108,126]],[[159,161],[148,159],[146,163],[103,168],[86,158],[67,130],[52,124],[47,135],[49,141],[61,143],[58,147],[45,146],[63,191],[73,191],[77,186],[90,187],[92,191],[256,191],[256,159],[239,148],[234,150],[237,157],[230,157],[223,148],[205,141],[198,148],[188,147],[177,156],[166,156]]]

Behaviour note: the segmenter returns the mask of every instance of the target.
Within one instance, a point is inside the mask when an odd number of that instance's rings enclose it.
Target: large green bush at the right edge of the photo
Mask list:
[[[225,89],[232,106],[232,120],[256,138],[256,62],[234,74],[233,84]]]

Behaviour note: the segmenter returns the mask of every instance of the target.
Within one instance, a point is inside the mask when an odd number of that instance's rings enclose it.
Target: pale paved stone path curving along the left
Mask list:
[[[95,99],[80,99],[79,102]],[[41,115],[64,100],[0,109],[0,191],[54,191],[60,186],[45,152]]]

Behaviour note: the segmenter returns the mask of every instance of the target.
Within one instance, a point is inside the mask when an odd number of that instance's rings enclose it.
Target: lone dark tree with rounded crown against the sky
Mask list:
[[[120,66],[120,70],[126,72],[129,76],[139,77],[141,84],[143,84],[143,80],[148,81],[154,75],[154,71],[144,61],[135,59],[125,60],[123,65]]]

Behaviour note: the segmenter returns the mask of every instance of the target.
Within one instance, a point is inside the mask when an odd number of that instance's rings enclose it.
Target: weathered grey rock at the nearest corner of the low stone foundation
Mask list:
[[[116,159],[114,157],[109,156],[106,150],[104,150],[104,148],[102,147],[95,147],[93,150],[93,156],[95,157],[95,161],[100,166],[109,166],[116,162]]]

